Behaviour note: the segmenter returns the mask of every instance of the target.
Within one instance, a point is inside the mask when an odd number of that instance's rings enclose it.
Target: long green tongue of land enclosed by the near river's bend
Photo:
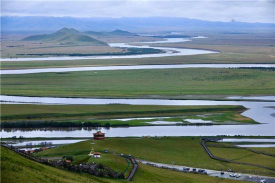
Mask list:
[[[137,116],[163,116],[202,112],[238,112],[238,105],[35,105],[1,104],[1,119],[31,119],[50,117],[116,118]],[[208,118],[207,118],[208,119]]]

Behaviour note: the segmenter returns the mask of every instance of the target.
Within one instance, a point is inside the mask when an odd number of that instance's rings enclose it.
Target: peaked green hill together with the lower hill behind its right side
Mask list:
[[[61,28],[60,30],[51,34],[31,35],[23,38],[23,41],[41,41],[41,42],[54,42],[59,44],[78,44],[78,43],[89,43],[93,45],[107,45],[106,42],[97,40],[95,37],[106,37],[106,36],[125,36],[125,35],[136,35],[134,33],[114,30],[114,31],[78,31],[74,28]]]

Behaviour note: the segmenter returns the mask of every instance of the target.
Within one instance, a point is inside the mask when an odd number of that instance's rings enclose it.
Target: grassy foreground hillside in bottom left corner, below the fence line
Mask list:
[[[2,183],[5,182],[111,182],[87,173],[75,173],[26,159],[1,147]]]

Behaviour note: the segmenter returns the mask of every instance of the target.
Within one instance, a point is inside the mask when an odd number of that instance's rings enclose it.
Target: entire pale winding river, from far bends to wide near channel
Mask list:
[[[188,41],[189,39],[168,38],[163,42]],[[133,43],[133,42],[131,42]],[[143,42],[144,43],[144,42]],[[147,42],[149,43],[149,42]],[[128,43],[110,43],[110,46],[118,47],[150,47],[148,45],[135,46]],[[159,48],[159,47],[152,47]],[[67,60],[67,59],[104,59],[104,58],[141,58],[173,55],[190,55],[214,53],[215,51],[201,49],[183,49],[161,47],[165,53],[120,55],[120,56],[73,56],[73,57],[41,57],[41,58],[3,58],[0,61],[29,61],[29,60]],[[274,67],[275,64],[165,64],[165,65],[125,65],[125,66],[93,66],[93,67],[68,67],[68,68],[38,68],[1,70],[1,74],[21,74],[39,72],[62,72],[80,70],[114,70],[114,69],[152,69],[152,68],[187,68],[187,67]],[[274,135],[274,101],[215,101],[215,100],[168,100],[168,99],[104,99],[104,98],[60,98],[60,97],[26,97],[26,96],[0,96],[1,103],[35,103],[35,104],[156,104],[156,105],[243,105],[248,110],[242,114],[262,124],[246,125],[212,125],[212,126],[138,126],[138,127],[110,127],[110,128],[38,128],[38,129],[1,129],[1,137],[19,136],[25,137],[87,137],[96,130],[103,130],[106,136],[198,136],[198,135]]]

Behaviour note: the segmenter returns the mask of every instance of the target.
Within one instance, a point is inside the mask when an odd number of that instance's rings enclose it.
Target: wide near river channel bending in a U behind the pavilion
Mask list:
[[[2,137],[88,137],[96,130],[102,130],[106,136],[199,136],[199,135],[270,135],[275,134],[273,101],[216,101],[216,100],[169,100],[169,99],[107,99],[107,98],[60,98],[60,97],[26,97],[1,95],[1,100],[30,103],[53,104],[155,104],[155,105],[243,105],[248,110],[242,115],[262,124],[212,125],[212,126],[136,126],[110,128],[40,128],[40,129],[1,129]],[[11,102],[13,101],[13,102]]]

